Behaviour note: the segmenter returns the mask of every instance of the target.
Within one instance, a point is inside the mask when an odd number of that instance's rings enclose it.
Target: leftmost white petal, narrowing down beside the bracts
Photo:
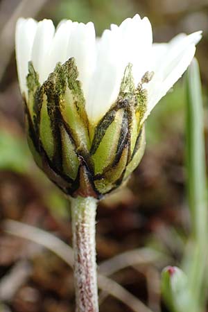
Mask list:
[[[28,62],[31,60],[36,30],[37,21],[34,19],[18,19],[15,33],[17,73],[21,93],[25,93],[25,95],[27,95],[26,76],[28,74]]]

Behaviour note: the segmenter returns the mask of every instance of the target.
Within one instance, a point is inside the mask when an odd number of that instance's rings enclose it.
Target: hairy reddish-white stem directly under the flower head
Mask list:
[[[71,199],[76,312],[98,312],[95,218],[94,198]]]

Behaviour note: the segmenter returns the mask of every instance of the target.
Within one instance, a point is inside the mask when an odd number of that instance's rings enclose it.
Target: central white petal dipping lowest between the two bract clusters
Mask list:
[[[117,28],[104,31],[97,48],[96,69],[86,98],[87,114],[94,123],[101,119],[116,100],[127,65],[124,63],[121,36]]]

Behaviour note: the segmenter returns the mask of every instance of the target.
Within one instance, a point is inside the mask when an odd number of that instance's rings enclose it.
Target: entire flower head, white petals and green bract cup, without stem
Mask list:
[[[19,19],[17,71],[37,164],[72,196],[100,197],[144,153],[144,121],[189,66],[201,33],[153,44],[135,15],[96,39],[94,24]]]

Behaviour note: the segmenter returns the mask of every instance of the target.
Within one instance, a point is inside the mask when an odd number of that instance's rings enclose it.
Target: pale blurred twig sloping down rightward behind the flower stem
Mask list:
[[[6,220],[3,223],[3,228],[9,234],[19,236],[23,239],[29,239],[35,243],[43,245],[45,248],[51,250],[58,255],[69,266],[73,267],[73,250],[72,248],[58,239],[58,237],[45,232],[42,229],[26,225],[14,220]],[[98,274],[98,286],[103,291],[119,299],[123,304],[126,304],[135,312],[153,312],[148,309],[139,299],[125,290],[116,281],[112,281],[103,275]]]

